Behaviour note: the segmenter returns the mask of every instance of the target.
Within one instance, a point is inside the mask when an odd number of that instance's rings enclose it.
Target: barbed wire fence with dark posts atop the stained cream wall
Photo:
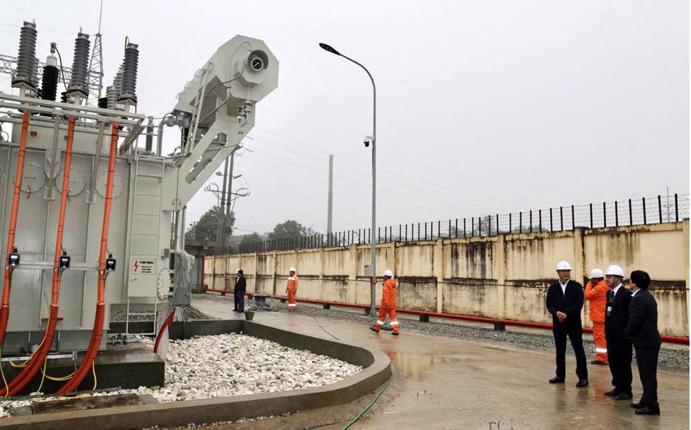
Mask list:
[[[560,206],[508,214],[489,214],[446,221],[413,222],[377,228],[377,244],[441,238],[489,237],[505,234],[570,231],[576,227],[605,228],[665,224],[689,218],[689,195],[658,195],[601,204]],[[229,254],[290,251],[371,244],[371,228],[339,231],[330,235],[288,237],[229,246]]]

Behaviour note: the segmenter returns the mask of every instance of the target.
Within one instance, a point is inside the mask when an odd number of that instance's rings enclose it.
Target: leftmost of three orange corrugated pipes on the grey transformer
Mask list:
[[[12,195],[12,211],[10,212],[10,229],[7,234],[7,252],[5,253],[5,284],[2,290],[2,302],[0,304],[0,346],[5,340],[7,322],[10,319],[10,279],[12,269],[10,268],[10,253],[14,251],[15,233],[17,228],[17,212],[19,211],[19,192],[21,190],[21,179],[24,170],[24,155],[26,155],[26,140],[29,135],[29,115],[28,110],[24,110],[21,119],[21,138],[19,140],[19,156],[17,157],[17,175],[15,176],[15,194]]]

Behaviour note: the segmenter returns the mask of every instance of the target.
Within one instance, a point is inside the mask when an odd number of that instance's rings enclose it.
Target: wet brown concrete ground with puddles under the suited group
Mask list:
[[[231,302],[193,297],[192,306],[214,317],[244,317],[232,312]],[[300,312],[256,312],[254,321],[321,338],[334,336],[389,355],[405,378],[392,383],[372,409],[352,424],[352,430],[689,428],[688,373],[658,371],[662,414],[636,416],[630,400],[617,401],[603,394],[612,388],[606,366],[589,366],[589,386],[576,388],[572,354],[567,355],[566,383],[549,384],[554,375],[553,351],[425,335],[406,331],[404,323],[398,337],[384,331],[377,335],[357,322],[315,319]],[[634,400],[638,401],[641,382],[635,364],[633,372]],[[321,428],[342,429],[345,424]]]

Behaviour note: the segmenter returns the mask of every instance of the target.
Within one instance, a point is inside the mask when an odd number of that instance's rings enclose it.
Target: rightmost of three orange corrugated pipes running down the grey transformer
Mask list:
[[[91,370],[96,354],[101,346],[103,338],[103,324],[106,315],[105,291],[106,291],[106,244],[108,243],[108,226],[111,222],[111,203],[113,202],[113,176],[115,175],[115,149],[117,148],[117,122],[111,128],[111,152],[108,157],[108,178],[106,179],[106,201],[103,207],[103,226],[101,228],[101,248],[98,256],[98,292],[96,298],[96,316],[91,330],[91,340],[88,348],[79,364],[79,369],[66,384],[57,392],[71,393],[82,383],[86,374]],[[96,155],[100,157],[100,154]]]

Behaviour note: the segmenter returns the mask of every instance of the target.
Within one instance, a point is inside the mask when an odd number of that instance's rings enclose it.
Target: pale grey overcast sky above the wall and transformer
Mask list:
[[[71,66],[99,8],[12,2],[0,53],[16,57],[35,19],[37,57],[55,41]],[[250,192],[234,206],[238,235],[287,219],[324,233],[330,154],[334,231],[371,224],[372,85],[319,42],[377,85],[379,226],[689,193],[686,0],[104,0],[101,33],[104,86],[125,37],[138,43],[138,112],[154,117],[236,34],[278,58],[278,88],[236,156],[233,190]],[[167,128],[164,150],[178,140]],[[188,222],[214,204],[200,190]]]

